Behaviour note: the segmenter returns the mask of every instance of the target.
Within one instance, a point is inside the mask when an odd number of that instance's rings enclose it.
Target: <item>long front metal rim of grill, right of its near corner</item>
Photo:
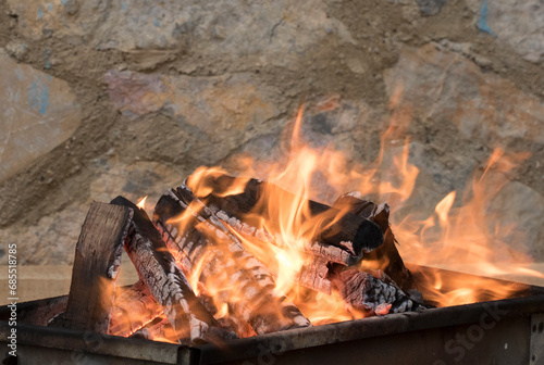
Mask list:
[[[498,301],[456,305],[442,309],[390,314],[341,322],[317,327],[285,330],[232,340],[228,347],[199,345],[199,364],[251,358],[267,353],[287,352],[370,337],[426,330],[441,327],[478,324],[482,316],[503,314],[503,317],[530,316],[544,312],[544,294]],[[505,314],[506,313],[506,314]]]

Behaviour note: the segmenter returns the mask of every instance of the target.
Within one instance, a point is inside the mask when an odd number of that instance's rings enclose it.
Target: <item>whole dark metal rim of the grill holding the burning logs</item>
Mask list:
[[[416,266],[418,265],[411,265],[410,269],[413,269]],[[434,269],[424,266],[419,267],[422,270]],[[461,274],[444,269],[438,270],[448,274]],[[468,278],[480,277],[470,274],[462,275]],[[508,312],[507,316],[532,315],[544,312],[544,288],[500,279],[492,280],[518,285],[522,289],[519,293],[530,297],[432,309],[417,313],[390,314],[384,317],[371,317],[292,329],[232,340],[221,347],[203,344],[187,348],[172,343],[25,324],[17,325],[17,342],[27,345],[66,351],[87,351],[166,364],[217,364],[255,357],[263,353],[274,353],[277,352],[279,345],[285,352],[344,341],[361,340],[370,337],[472,324],[478,323],[482,315],[493,313],[493,311],[506,311]],[[55,299],[58,298],[20,303],[17,306],[29,307],[36,304],[46,304],[48,301]],[[7,311],[9,311],[7,305],[0,307],[0,314]],[[0,342],[8,342],[10,330],[11,327],[8,326],[8,322],[0,320]],[[101,344],[98,347],[97,343]]]

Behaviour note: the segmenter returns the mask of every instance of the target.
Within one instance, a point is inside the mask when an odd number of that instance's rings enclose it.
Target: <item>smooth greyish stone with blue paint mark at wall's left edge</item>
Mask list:
[[[81,123],[74,92],[61,79],[0,48],[0,181],[70,138]]]

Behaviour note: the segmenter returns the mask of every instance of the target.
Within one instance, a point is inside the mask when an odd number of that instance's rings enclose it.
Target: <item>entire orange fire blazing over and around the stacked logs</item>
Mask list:
[[[259,238],[240,235],[231,229],[258,261],[264,264],[275,280],[274,292],[287,295],[300,312],[313,324],[334,323],[364,317],[367,314],[349,311],[336,290],[331,294],[312,291],[298,285],[305,266],[310,264],[310,257],[304,248],[317,234],[323,222],[331,225],[341,216],[312,215],[309,200],[321,197],[331,204],[332,199],[348,191],[357,197],[371,196],[376,203],[387,202],[391,206],[392,229],[399,242],[398,250],[405,262],[429,266],[419,273],[418,266],[410,266],[415,275],[423,277],[418,281],[418,289],[424,299],[437,306],[466,304],[482,300],[504,299],[512,295],[516,290],[508,284],[498,285],[486,278],[463,275],[443,275],[444,272],[431,267],[450,268],[470,272],[471,264],[478,266],[478,275],[506,276],[509,274],[533,275],[543,274],[527,268],[530,262],[526,255],[515,252],[506,239],[511,227],[493,226],[495,217],[487,212],[489,202],[508,181],[506,173],[519,164],[528,154],[507,155],[496,149],[490,156],[483,173],[475,172],[470,189],[462,194],[450,191],[436,204],[434,212],[421,219],[417,214],[400,214],[406,211],[408,199],[412,196],[419,171],[409,163],[409,140],[401,139],[411,118],[409,108],[401,105],[401,88],[394,92],[390,108],[393,109],[392,123],[382,136],[382,148],[379,158],[370,166],[349,163],[346,158],[332,148],[312,149],[302,140],[302,108],[300,108],[293,125],[290,151],[285,164],[279,162],[256,162],[248,156],[239,158],[239,166],[245,171],[242,178],[236,179],[230,189],[218,192],[221,197],[230,197],[244,192],[250,177],[258,176],[282,189],[264,188],[259,202],[249,213],[260,232]],[[337,108],[336,103],[327,102],[326,108]],[[386,149],[404,143],[400,152],[393,158]],[[401,144],[400,144],[401,146]],[[259,172],[259,173],[258,173]],[[209,177],[227,175],[221,167],[200,167],[187,181],[187,186],[197,196],[208,196],[212,191]],[[326,181],[326,192],[316,190],[317,180]],[[285,193],[288,191],[289,193]],[[145,206],[145,198],[138,203]],[[201,210],[190,204],[178,217],[169,223],[176,224],[183,230],[191,217],[191,212]],[[418,213],[418,212],[415,212]],[[272,216],[274,219],[265,219]],[[515,224],[515,223],[512,223]],[[205,254],[199,262],[194,263],[186,273],[188,280],[197,294],[210,301],[217,310],[213,313],[218,320],[234,320],[231,318],[232,306],[251,306],[243,303],[242,289],[228,279],[236,275],[234,267],[215,268],[217,276],[202,280],[206,265],[212,265],[218,255],[230,255],[218,234],[210,231],[205,223],[196,227],[207,237],[213,239],[214,249]],[[522,238],[519,238],[520,240]],[[178,255],[174,253],[174,255]],[[514,264],[505,266],[504,257],[514,257]],[[176,257],[180,262],[182,257]],[[358,267],[363,270],[383,269],[387,262],[362,260]],[[474,267],[474,266],[472,266]],[[213,272],[213,270],[212,270]],[[228,299],[227,301],[225,299]],[[226,304],[230,303],[230,304]],[[255,335],[251,329],[248,336]]]

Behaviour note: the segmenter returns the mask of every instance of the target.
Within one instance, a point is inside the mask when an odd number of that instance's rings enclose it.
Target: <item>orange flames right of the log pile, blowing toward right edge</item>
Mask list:
[[[408,216],[394,227],[397,239],[409,243],[399,247],[403,257],[419,265],[455,268],[487,277],[544,277],[542,273],[527,268],[530,257],[510,247],[507,236],[512,226],[494,224],[490,228],[494,221],[498,221],[489,213],[490,202],[508,182],[506,174],[528,156],[527,153],[508,156],[502,149],[496,149],[484,172],[474,174],[459,206],[453,207],[456,199],[453,191],[436,204],[438,222],[433,216],[425,221]],[[518,239],[522,241],[523,237]],[[443,275],[440,270],[428,270],[420,285],[426,299],[441,306],[509,298],[520,290],[516,285],[462,275],[448,275],[448,289],[445,290]]]

